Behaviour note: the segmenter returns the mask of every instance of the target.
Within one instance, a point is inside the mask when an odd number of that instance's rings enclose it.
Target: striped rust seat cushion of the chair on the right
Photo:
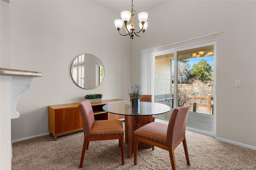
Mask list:
[[[168,125],[164,123],[152,122],[134,131],[135,136],[166,145],[166,134]]]

